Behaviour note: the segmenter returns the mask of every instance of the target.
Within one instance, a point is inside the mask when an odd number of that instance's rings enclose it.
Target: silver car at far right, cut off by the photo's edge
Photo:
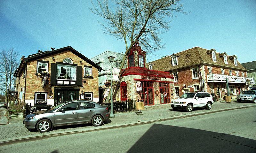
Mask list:
[[[256,103],[256,90],[245,90],[236,96],[237,102],[247,101]]]

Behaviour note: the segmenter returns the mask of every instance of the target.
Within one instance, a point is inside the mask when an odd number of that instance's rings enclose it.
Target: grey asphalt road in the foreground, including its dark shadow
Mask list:
[[[38,138],[0,152],[256,152],[256,107]]]

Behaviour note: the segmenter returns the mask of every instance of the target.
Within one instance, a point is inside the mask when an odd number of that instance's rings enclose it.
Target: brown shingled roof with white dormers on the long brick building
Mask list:
[[[164,58],[160,58],[158,60],[152,61],[150,63],[154,63],[153,70],[158,71],[173,71],[180,68],[190,67],[194,65],[216,65],[218,67],[229,68],[229,69],[238,69],[242,71],[248,71],[245,69],[238,61],[237,66],[234,65],[233,55],[231,58],[228,56],[228,64],[224,63],[223,57],[220,57],[220,53],[216,53],[216,60],[217,62],[212,61],[212,54],[209,54],[214,49],[206,50],[200,47],[194,47],[188,50],[184,50],[178,54],[178,65],[172,66],[172,58],[171,56],[167,56]]]

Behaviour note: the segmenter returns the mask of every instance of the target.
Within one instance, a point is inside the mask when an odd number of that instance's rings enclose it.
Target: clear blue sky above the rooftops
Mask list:
[[[175,13],[165,48],[148,62],[195,46],[255,61],[255,0],[181,0],[188,14]],[[0,0],[0,50],[13,47],[20,57],[38,50],[71,46],[88,58],[106,50],[124,52],[122,40],[104,34],[103,20],[90,11],[90,0]]]

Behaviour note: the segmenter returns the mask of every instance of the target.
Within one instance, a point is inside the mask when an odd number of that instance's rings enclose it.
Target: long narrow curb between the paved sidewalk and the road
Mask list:
[[[227,108],[227,109],[219,109],[219,110],[208,111],[208,112],[198,112],[198,113],[191,113],[191,114],[182,114],[182,115],[167,117],[167,118],[163,118],[163,119],[148,120],[148,121],[141,121],[141,122],[133,122],[133,123],[128,123],[128,124],[127,123],[123,123],[123,124],[119,124],[119,125],[114,125],[114,126],[109,126],[109,127],[102,127],[102,128],[98,128],[98,129],[88,129],[88,130],[81,130],[81,131],[60,132],[60,133],[56,133],[56,134],[40,133],[40,134],[35,134],[34,136],[33,135],[28,135],[30,137],[22,136],[22,137],[20,137],[18,139],[7,138],[6,141],[0,142],[0,146],[7,145],[7,144],[12,144],[13,142],[19,142],[19,141],[24,141],[24,140],[32,141],[34,139],[44,139],[44,138],[49,138],[49,137],[53,137],[53,136],[59,136],[59,135],[63,135],[63,134],[64,135],[78,134],[78,133],[100,131],[100,130],[113,129],[113,128],[122,128],[122,127],[127,127],[127,126],[136,126],[136,125],[150,124],[150,123],[153,123],[153,122],[166,121],[166,120],[172,120],[172,119],[183,119],[183,118],[193,117],[193,116],[198,116],[198,115],[212,114],[212,113],[216,113],[216,112],[230,111],[230,110],[250,108],[250,107],[255,107],[255,105],[239,106],[239,107],[233,107],[233,108]],[[12,140],[8,140],[8,139],[12,139]]]

